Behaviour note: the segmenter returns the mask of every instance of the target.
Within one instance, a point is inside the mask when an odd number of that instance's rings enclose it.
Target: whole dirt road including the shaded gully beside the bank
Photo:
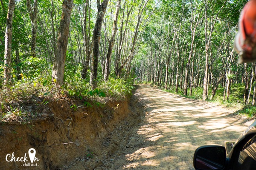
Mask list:
[[[197,147],[235,141],[253,122],[220,106],[149,85],[138,86],[130,110],[91,148],[92,159],[80,159],[67,170],[194,170]]]

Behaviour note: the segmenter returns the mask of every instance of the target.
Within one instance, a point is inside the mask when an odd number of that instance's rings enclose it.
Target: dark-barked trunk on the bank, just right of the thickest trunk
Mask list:
[[[97,69],[98,69],[98,58],[99,58],[99,43],[101,38],[102,23],[105,16],[105,12],[108,6],[108,0],[103,0],[100,4],[100,0],[97,0],[97,19],[93,30],[93,65],[90,74],[90,86],[92,89],[97,87]]]

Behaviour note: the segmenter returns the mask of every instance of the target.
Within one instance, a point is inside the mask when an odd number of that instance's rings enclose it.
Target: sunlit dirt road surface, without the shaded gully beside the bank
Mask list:
[[[251,123],[225,108],[149,85],[140,85],[134,95],[145,105],[146,116],[130,132],[123,153],[120,148],[113,156],[113,170],[194,170],[197,147],[234,141]]]

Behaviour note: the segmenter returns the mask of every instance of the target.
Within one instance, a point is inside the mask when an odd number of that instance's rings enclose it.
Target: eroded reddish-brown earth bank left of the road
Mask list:
[[[59,170],[90,159],[89,169],[99,167],[101,162],[93,158],[101,154],[102,141],[130,113],[127,100],[92,108],[79,100],[61,99],[50,102],[46,110],[41,119],[1,122],[0,170]],[[30,148],[38,158],[33,163]]]

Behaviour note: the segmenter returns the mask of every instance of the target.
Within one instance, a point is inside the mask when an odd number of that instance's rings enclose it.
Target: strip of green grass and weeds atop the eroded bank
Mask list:
[[[102,107],[108,100],[126,99],[134,88],[133,79],[110,77],[108,81],[99,81],[98,88],[92,90],[89,80],[81,79],[80,69],[73,71],[68,67],[63,85],[57,87],[51,75],[39,72],[24,72],[20,80],[13,76],[12,85],[0,88],[0,120],[26,122],[37,119],[45,113],[49,102],[60,99],[80,100],[86,107]],[[70,105],[74,110],[77,107]]]

